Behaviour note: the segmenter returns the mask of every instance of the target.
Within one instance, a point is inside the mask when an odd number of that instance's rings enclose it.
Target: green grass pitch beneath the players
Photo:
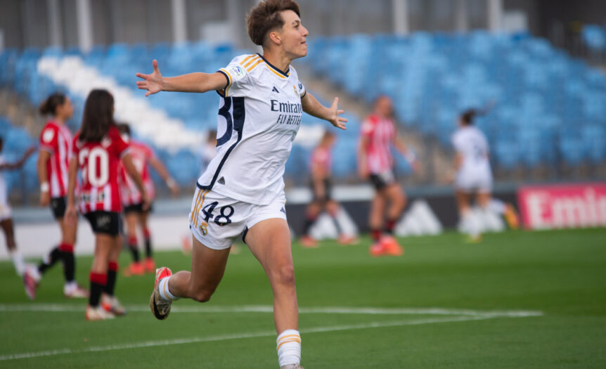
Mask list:
[[[373,259],[368,238],[293,244],[302,365],[318,368],[604,368],[606,230],[403,238],[404,257]],[[158,264],[189,270],[181,252]],[[122,255],[126,266],[129,254]],[[88,285],[90,257],[77,260]],[[86,322],[64,299],[60,267],[30,302],[0,263],[0,368],[277,368],[271,290],[243,247],[206,304],[148,309],[153,276],[120,277],[129,313]]]

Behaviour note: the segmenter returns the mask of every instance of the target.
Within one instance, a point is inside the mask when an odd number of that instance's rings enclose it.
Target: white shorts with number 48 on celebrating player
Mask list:
[[[286,220],[285,203],[284,193],[276,195],[269,205],[255,205],[196,188],[189,213],[191,233],[202,245],[225,250],[259,221]]]

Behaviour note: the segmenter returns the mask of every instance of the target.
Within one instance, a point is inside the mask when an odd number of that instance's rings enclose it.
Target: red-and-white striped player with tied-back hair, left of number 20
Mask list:
[[[38,180],[40,181],[40,206],[51,205],[51,212],[61,230],[61,242],[53,247],[37,268],[28,266],[23,275],[25,292],[30,299],[36,297],[36,289],[41,276],[57,261],[63,261],[65,285],[63,294],[66,297],[88,297],[89,292],[79,287],[75,280],[77,224],[65,224],[65,195],[67,193],[67,171],[72,133],[65,122],[74,115],[72,102],[63,93],[53,93],[40,105],[41,115],[52,115],[40,134],[38,154]]]

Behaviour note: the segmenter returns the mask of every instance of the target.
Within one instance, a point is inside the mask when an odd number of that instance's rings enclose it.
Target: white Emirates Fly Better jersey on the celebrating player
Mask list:
[[[198,188],[268,205],[284,190],[284,167],[301,124],[305,88],[295,68],[278,70],[259,54],[237,56],[226,77],[217,127],[217,155]]]

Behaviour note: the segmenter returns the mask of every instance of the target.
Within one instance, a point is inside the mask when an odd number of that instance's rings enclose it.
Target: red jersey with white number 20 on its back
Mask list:
[[[78,160],[82,184],[78,193],[81,214],[95,211],[122,212],[118,164],[129,153],[129,143],[115,126],[101,142],[81,142],[74,137],[72,153]]]

